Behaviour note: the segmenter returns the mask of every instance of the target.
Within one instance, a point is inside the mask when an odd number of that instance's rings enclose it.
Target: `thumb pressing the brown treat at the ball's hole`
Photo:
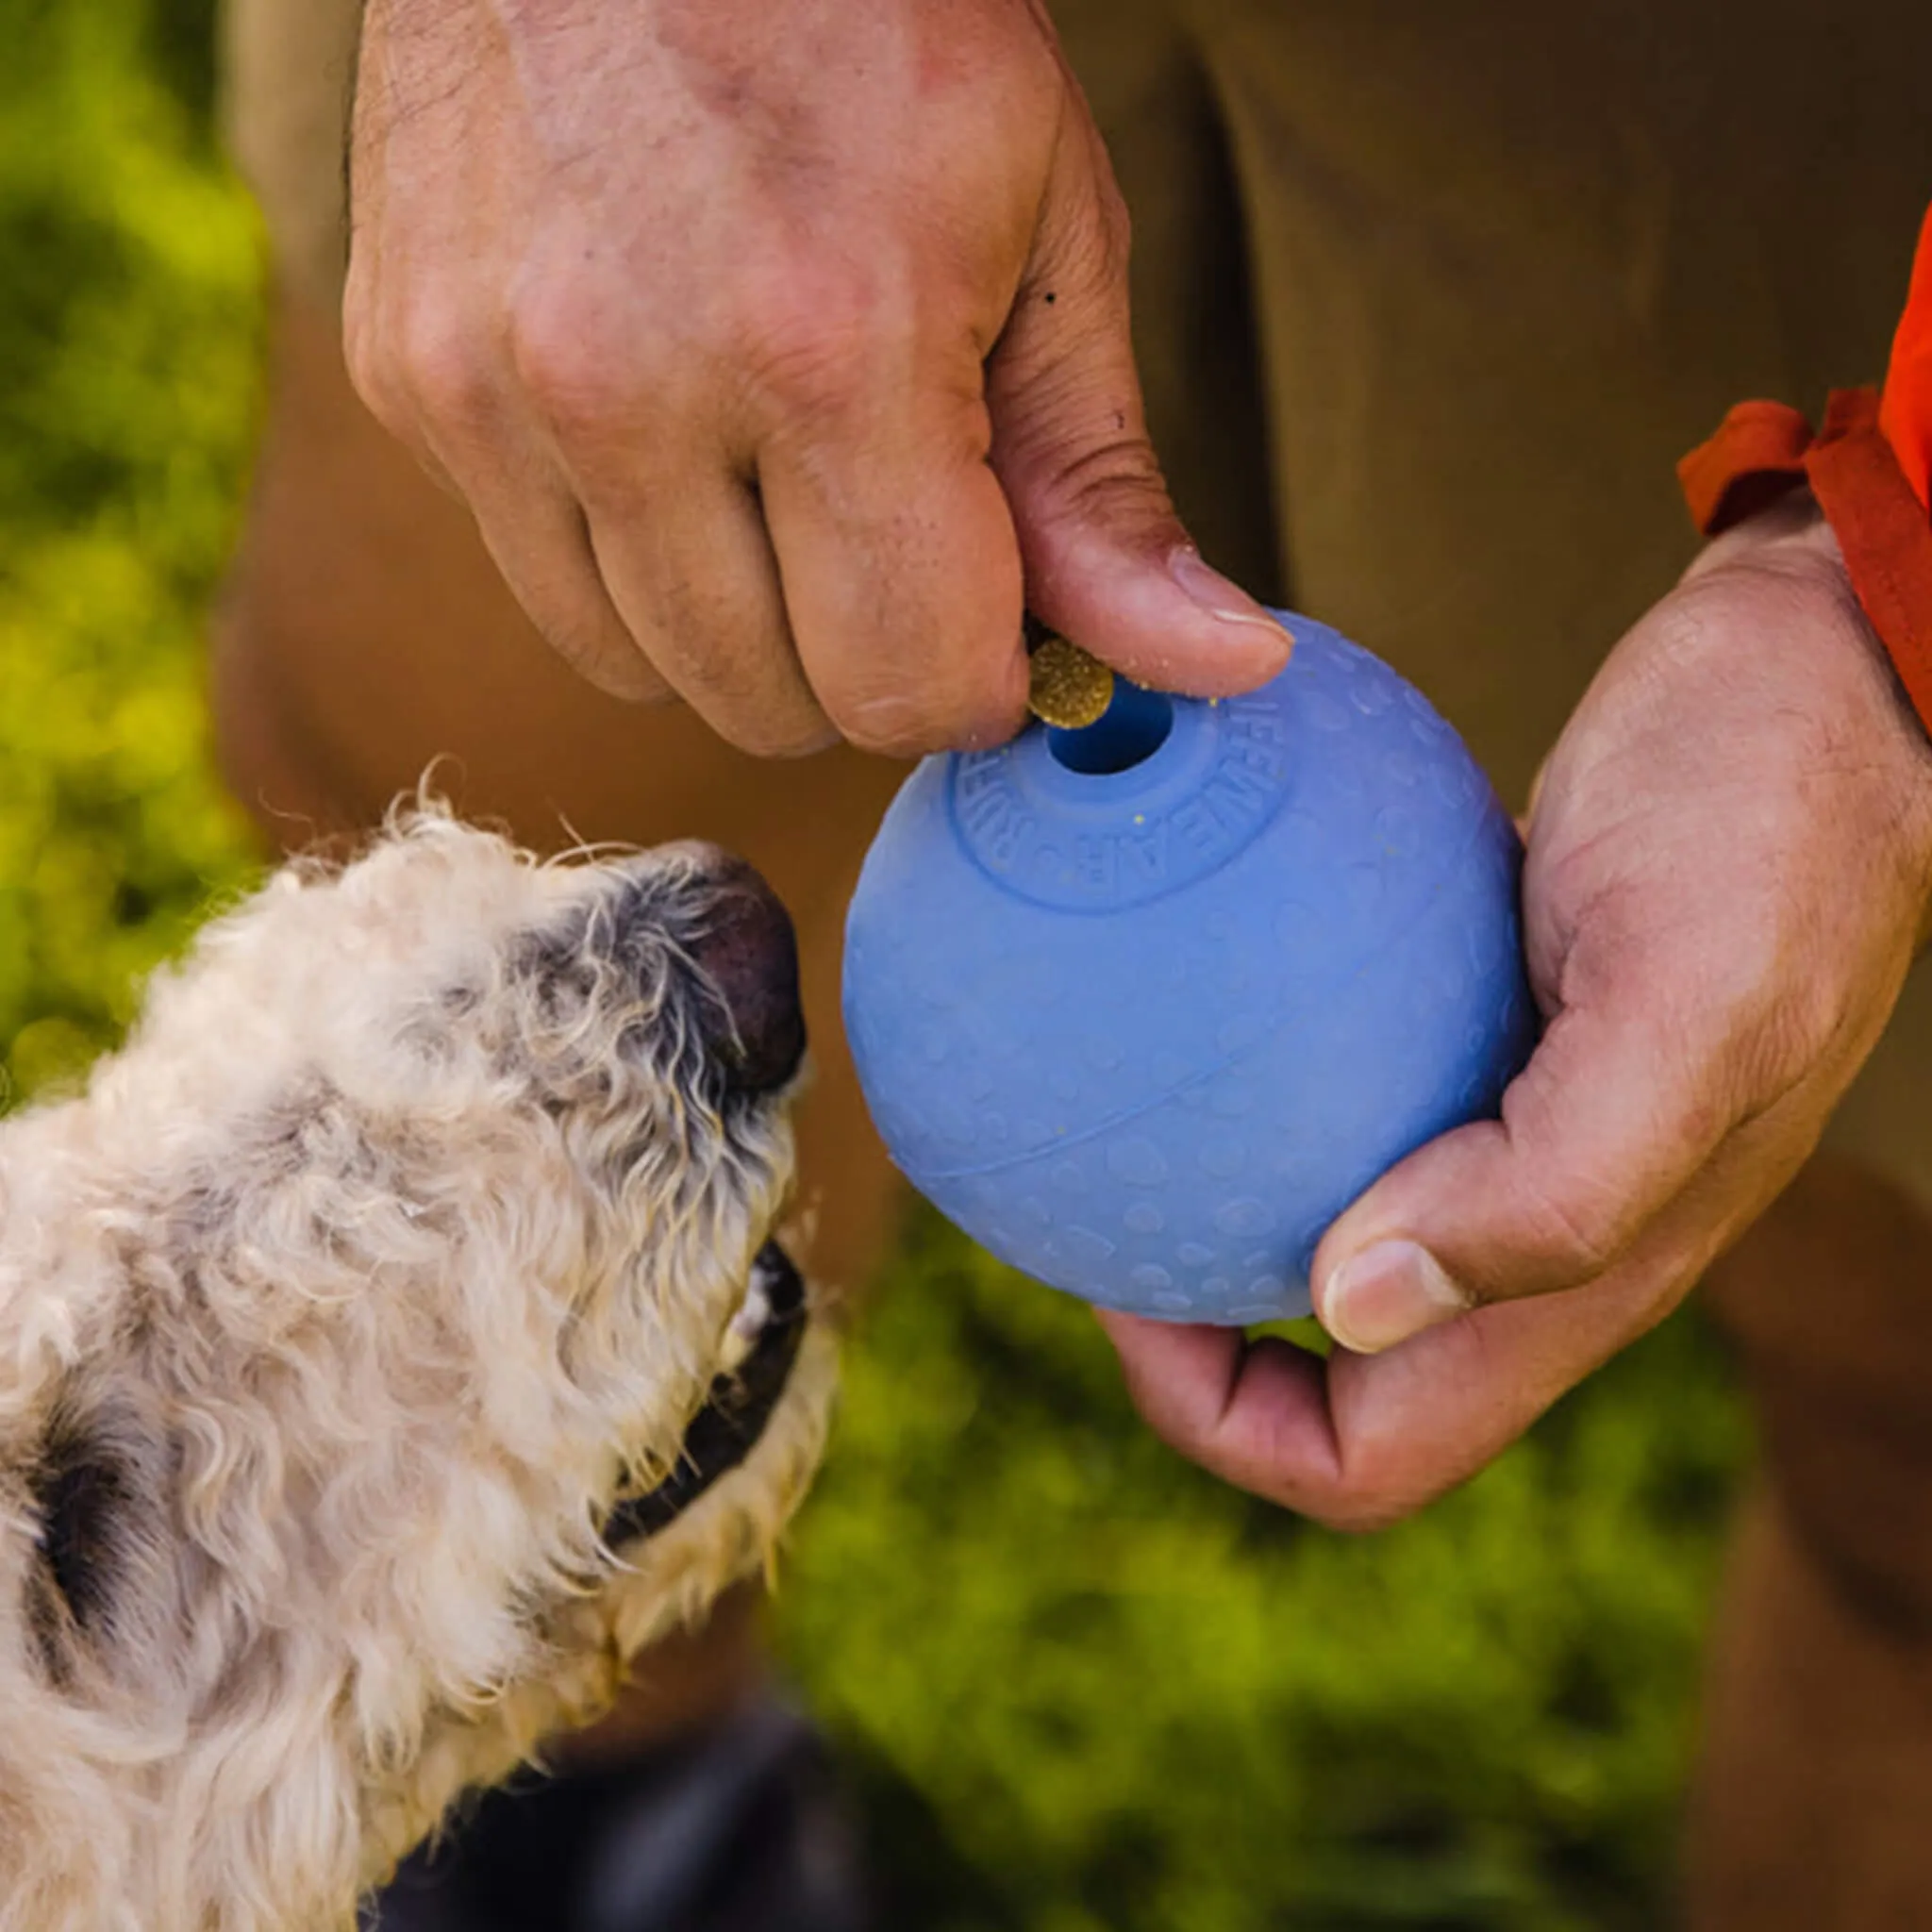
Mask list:
[[[987,361],[993,469],[1034,616],[1140,684],[1223,697],[1271,678],[1289,636],[1175,516],[1134,371],[1126,253],[1126,209],[1074,102]]]

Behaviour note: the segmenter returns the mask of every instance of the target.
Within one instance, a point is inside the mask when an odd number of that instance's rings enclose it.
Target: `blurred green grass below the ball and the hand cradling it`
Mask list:
[[[1084,1310],[922,1221],[782,1638],[891,1924],[1654,1928],[1741,1451],[1679,1323],[1420,1519],[1335,1536],[1182,1466]]]

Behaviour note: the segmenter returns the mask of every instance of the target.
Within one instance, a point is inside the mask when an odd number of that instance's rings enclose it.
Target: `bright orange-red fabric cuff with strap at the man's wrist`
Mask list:
[[[1741,402],[1677,466],[1677,479],[1706,537],[1808,481],[1851,587],[1932,732],[1932,211],[1884,402],[1870,388],[1833,390],[1816,435],[1781,402]]]

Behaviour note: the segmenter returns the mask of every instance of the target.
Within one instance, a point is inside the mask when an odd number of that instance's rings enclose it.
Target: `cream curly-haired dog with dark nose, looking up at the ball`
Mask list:
[[[748,867],[417,811],[0,1124],[0,1926],[350,1926],[769,1561],[802,1051]]]

